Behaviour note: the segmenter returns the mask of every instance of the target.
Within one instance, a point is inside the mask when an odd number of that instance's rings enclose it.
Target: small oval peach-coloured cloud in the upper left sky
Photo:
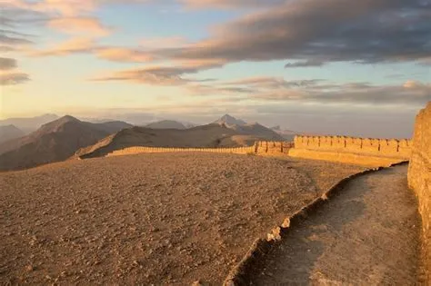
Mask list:
[[[105,36],[111,33],[110,28],[94,17],[55,18],[48,21],[47,25],[65,34]]]

